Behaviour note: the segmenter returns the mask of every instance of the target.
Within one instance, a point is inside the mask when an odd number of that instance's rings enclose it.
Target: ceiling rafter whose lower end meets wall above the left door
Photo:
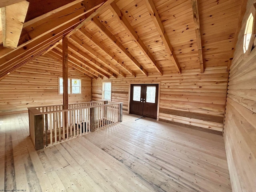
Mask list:
[[[100,43],[96,38],[94,38],[91,34],[89,34],[84,28],[80,28],[78,32],[81,32],[83,35],[85,35],[87,38],[89,38],[98,48],[100,48],[102,51],[104,51],[106,54],[108,54],[112,59],[114,59],[122,68],[124,68],[128,73],[130,73],[132,76],[136,77],[136,73],[132,71],[130,68],[128,68],[124,62],[122,62],[115,54],[110,52],[108,48],[106,48],[102,43]]]

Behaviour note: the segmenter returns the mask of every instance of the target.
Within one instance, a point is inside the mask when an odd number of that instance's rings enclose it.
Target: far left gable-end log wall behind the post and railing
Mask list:
[[[0,115],[27,112],[32,106],[63,104],[62,95],[58,95],[58,77],[62,77],[62,64],[40,56],[0,80]],[[69,94],[68,102],[90,101],[91,79],[70,68],[68,78],[82,80],[82,94]]]

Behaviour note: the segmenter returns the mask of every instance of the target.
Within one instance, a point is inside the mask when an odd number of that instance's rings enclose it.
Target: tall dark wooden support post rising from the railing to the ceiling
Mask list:
[[[62,39],[62,77],[63,77],[63,105],[68,108],[68,38]],[[64,122],[67,124],[67,116],[64,113]]]

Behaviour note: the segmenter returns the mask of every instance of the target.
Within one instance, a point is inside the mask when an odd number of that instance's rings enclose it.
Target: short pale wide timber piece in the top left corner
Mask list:
[[[1,8],[3,45],[17,48],[29,2],[22,1]]]

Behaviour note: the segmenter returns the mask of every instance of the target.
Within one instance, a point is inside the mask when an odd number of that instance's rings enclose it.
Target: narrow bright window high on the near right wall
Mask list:
[[[255,8],[254,6],[252,6],[250,15],[247,19],[246,27],[244,30],[243,49],[244,49],[244,53],[247,53],[247,54],[250,54],[250,52],[252,51],[252,46],[255,38],[256,30],[254,29],[255,28],[254,23],[255,23]]]

